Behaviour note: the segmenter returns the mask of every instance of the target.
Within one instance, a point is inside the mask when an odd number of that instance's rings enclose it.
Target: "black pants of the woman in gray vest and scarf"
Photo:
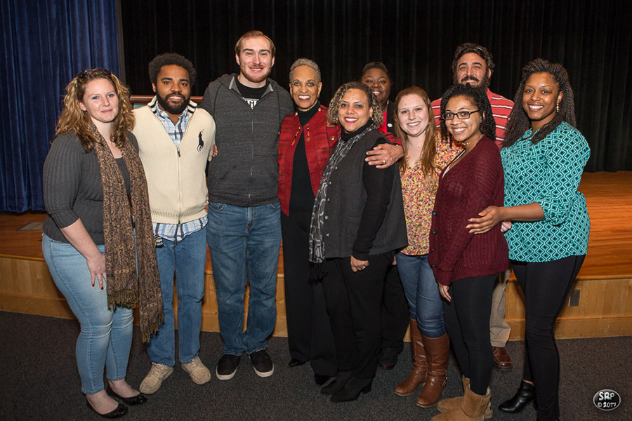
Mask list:
[[[338,370],[357,379],[371,379],[377,370],[384,275],[392,259],[392,253],[369,258],[359,272],[352,272],[350,258],[325,260],[323,286]]]

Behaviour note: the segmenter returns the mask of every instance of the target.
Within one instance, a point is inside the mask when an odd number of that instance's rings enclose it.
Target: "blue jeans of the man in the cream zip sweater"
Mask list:
[[[173,367],[176,364],[176,333],[173,316],[173,274],[178,292],[178,349],[180,363],[187,364],[199,352],[202,328],[204,267],[206,266],[205,230],[193,232],[177,243],[162,239],[156,248],[160,288],[164,305],[164,324],[147,344],[147,354],[154,363]]]

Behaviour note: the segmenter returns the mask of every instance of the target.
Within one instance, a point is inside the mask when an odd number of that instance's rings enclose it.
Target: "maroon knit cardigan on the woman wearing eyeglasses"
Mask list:
[[[468,218],[476,218],[487,206],[503,206],[503,190],[500,153],[487,136],[445,177],[441,174],[428,253],[437,282],[449,285],[507,269],[507,242],[500,224],[485,234],[470,234],[466,228]]]

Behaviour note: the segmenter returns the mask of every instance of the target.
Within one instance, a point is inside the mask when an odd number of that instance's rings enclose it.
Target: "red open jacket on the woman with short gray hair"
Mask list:
[[[340,138],[340,126],[327,123],[327,107],[323,105],[320,105],[316,114],[304,127],[301,127],[296,112],[289,114],[283,120],[281,133],[279,133],[277,161],[279,162],[279,203],[281,203],[281,211],[285,215],[289,215],[294,151],[296,151],[296,142],[301,138],[301,133],[305,138],[305,154],[310,168],[310,181],[312,191],[316,196],[329,155],[333,152]]]

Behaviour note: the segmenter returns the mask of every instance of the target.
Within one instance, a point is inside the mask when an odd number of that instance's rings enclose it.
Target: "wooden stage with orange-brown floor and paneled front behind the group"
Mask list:
[[[632,220],[632,172],[584,173],[579,190],[588,203],[591,238],[586,261],[572,288],[572,295],[579,295],[579,300],[574,306],[567,300],[555,335],[632,335],[632,224],[621,223]],[[74,319],[41,255],[41,228],[37,224],[42,220],[41,212],[0,212],[0,311]],[[31,230],[18,230],[25,225]],[[275,336],[287,336],[281,262],[279,259]],[[202,330],[217,332],[217,299],[210,260],[205,282]],[[505,319],[511,326],[511,340],[522,340],[525,307],[513,277],[506,289]]]

